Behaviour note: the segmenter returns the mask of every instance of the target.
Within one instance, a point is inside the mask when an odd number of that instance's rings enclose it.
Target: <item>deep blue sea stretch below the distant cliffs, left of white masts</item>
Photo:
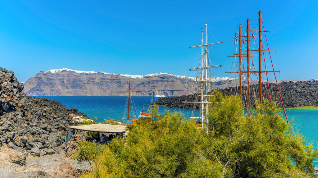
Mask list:
[[[122,121],[122,117],[127,118],[127,112],[124,115],[127,97],[121,96],[108,96],[108,97],[98,97],[98,96],[41,96],[38,98],[47,98],[50,100],[59,101],[63,106],[68,108],[77,108],[80,112],[85,113],[89,118],[96,116],[97,121],[103,122],[103,119],[113,119]],[[130,105],[129,115],[139,115],[140,111],[145,108],[144,112],[148,112],[151,109],[152,97],[141,96],[132,97],[133,106]],[[131,102],[131,101],[130,101]],[[133,109],[132,109],[133,107]],[[180,111],[184,114],[185,118],[189,118],[192,109],[181,109],[181,108],[168,108],[164,106],[159,106],[159,112],[163,113],[165,109],[170,112]],[[127,109],[126,109],[127,111]],[[197,114],[198,110],[195,110]]]

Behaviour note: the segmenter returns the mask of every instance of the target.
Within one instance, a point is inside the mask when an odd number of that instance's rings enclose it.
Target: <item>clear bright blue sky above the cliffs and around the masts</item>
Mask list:
[[[318,78],[317,0],[1,0],[0,66],[21,82],[55,68],[188,75],[205,20],[209,42],[223,42],[216,63],[228,65],[237,24],[259,10],[275,32],[280,79]]]

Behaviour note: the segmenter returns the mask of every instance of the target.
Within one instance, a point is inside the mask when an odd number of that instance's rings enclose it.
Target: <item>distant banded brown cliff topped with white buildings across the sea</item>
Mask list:
[[[148,75],[112,74],[107,72],[52,69],[39,72],[24,83],[29,96],[126,96],[131,77],[133,96],[151,96],[153,76],[160,95],[182,96],[195,92],[191,77],[156,73]],[[220,78],[222,80],[224,78]],[[226,78],[227,79],[227,78]],[[222,84],[222,81],[221,83]]]

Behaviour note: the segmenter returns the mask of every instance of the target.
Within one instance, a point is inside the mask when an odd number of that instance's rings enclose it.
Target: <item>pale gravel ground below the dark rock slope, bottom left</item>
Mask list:
[[[64,154],[53,154],[41,157],[27,157],[25,167],[28,168],[32,165],[40,165],[43,167],[43,171],[50,169],[51,167],[58,167],[63,162],[69,162],[74,168],[78,169],[79,172],[90,170],[90,165],[88,162],[81,162],[77,160],[66,160],[63,159]],[[17,172],[16,169],[22,168],[22,166],[10,165],[9,163],[0,162],[0,177],[14,177]]]

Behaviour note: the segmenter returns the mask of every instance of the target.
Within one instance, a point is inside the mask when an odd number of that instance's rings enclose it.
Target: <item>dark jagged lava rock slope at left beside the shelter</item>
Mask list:
[[[0,68],[0,145],[40,156],[65,153],[69,114],[87,117],[58,101],[26,96],[12,71]]]

